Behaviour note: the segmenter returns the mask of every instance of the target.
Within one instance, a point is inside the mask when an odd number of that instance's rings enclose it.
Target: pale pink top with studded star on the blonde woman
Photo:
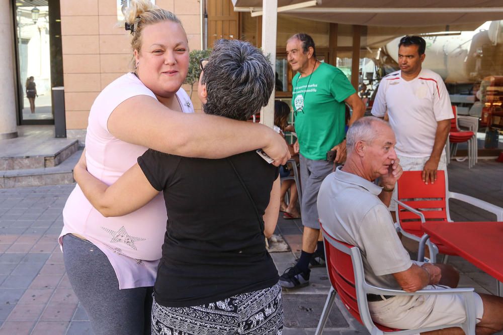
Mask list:
[[[183,112],[194,113],[185,90],[180,88],[176,94]],[[88,171],[108,185],[136,164],[138,156],[147,150],[117,139],[107,127],[112,111],[136,95],[156,98],[134,74],[127,73],[105,87],[91,107],[86,135]],[[138,118],[141,118],[141,110],[138,110]],[[130,214],[104,217],[75,185],[63,208],[64,226],[59,243],[63,248],[62,237],[75,233],[95,244],[114,267],[120,289],[153,286],[166,220],[162,192]]]

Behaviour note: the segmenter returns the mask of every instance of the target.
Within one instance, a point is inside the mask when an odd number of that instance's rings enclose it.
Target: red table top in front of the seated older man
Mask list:
[[[423,231],[503,282],[503,222],[425,222]]]

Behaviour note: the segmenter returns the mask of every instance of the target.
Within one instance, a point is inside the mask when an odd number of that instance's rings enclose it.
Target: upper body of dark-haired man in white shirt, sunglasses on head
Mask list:
[[[437,170],[446,169],[444,147],[454,115],[442,78],[422,68],[425,50],[422,37],[400,40],[400,70],[382,78],[372,115],[383,118],[387,111],[403,170],[422,170],[428,184],[437,179]]]

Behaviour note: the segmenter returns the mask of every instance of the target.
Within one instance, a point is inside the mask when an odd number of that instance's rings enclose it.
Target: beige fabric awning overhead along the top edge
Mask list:
[[[266,0],[267,1],[267,0]],[[232,0],[237,11],[262,11],[262,0]],[[314,3],[314,6],[312,4]],[[303,4],[311,5],[295,8]],[[297,6],[295,6],[297,5]],[[286,11],[282,11],[282,7]],[[278,0],[278,13],[362,26],[446,26],[503,20],[501,0]]]

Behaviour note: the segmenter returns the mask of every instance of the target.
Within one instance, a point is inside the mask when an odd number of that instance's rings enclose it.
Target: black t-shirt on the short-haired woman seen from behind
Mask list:
[[[156,302],[197,306],[278,282],[262,220],[278,168],[255,151],[202,159],[149,149],[138,164],[150,184],[163,191],[168,216]]]

